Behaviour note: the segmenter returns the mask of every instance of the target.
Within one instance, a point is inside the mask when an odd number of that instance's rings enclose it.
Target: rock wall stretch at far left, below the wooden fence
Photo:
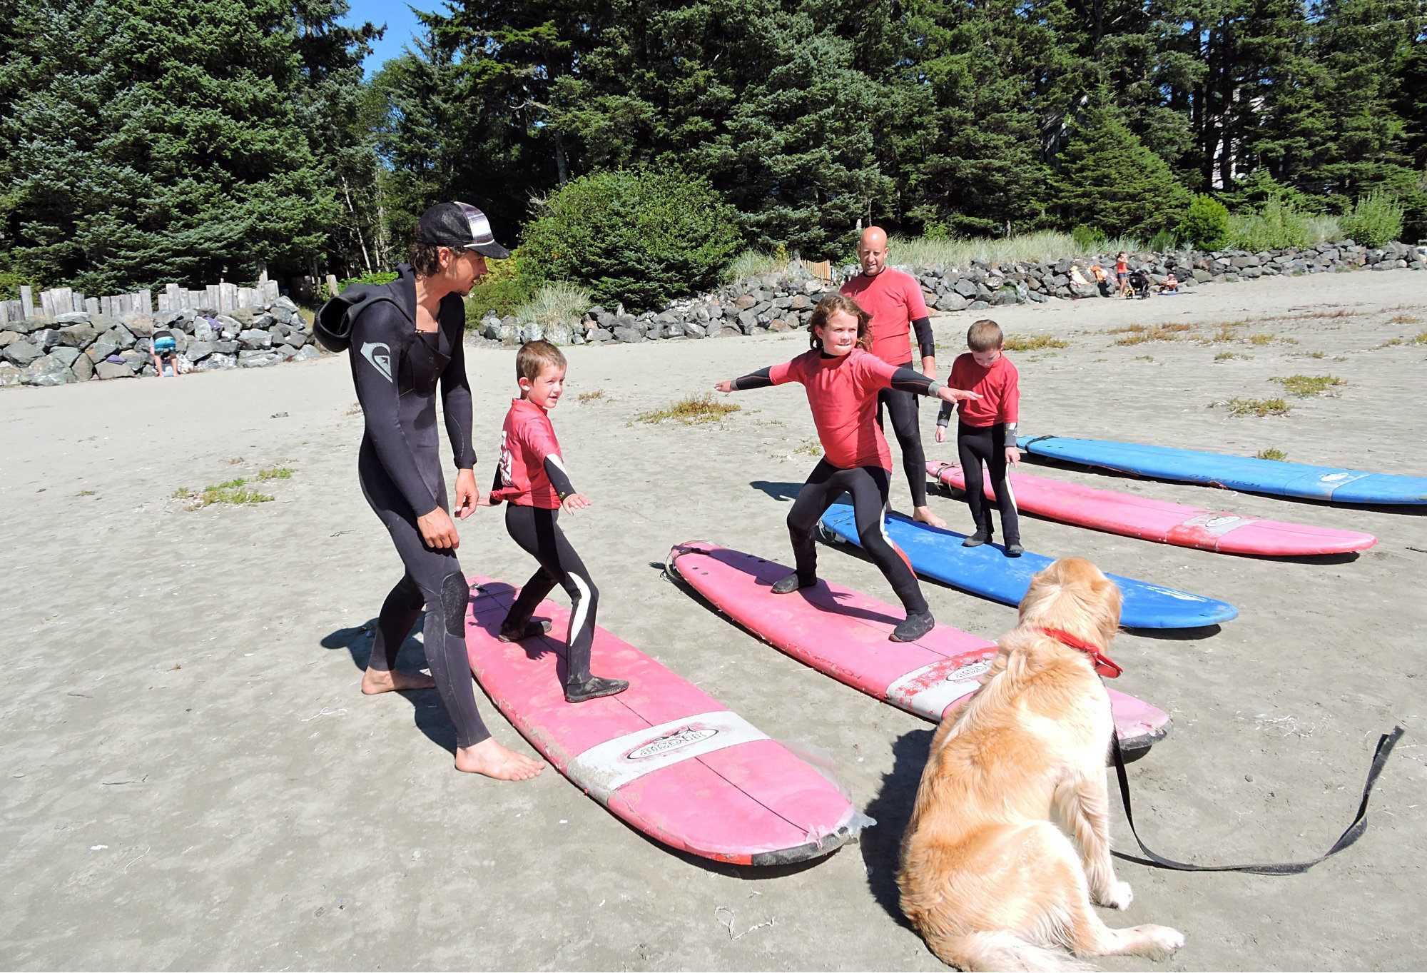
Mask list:
[[[153,337],[164,328],[178,345],[180,371],[264,368],[323,354],[285,297],[225,314],[73,311],[0,325],[0,387],[154,375]]]

